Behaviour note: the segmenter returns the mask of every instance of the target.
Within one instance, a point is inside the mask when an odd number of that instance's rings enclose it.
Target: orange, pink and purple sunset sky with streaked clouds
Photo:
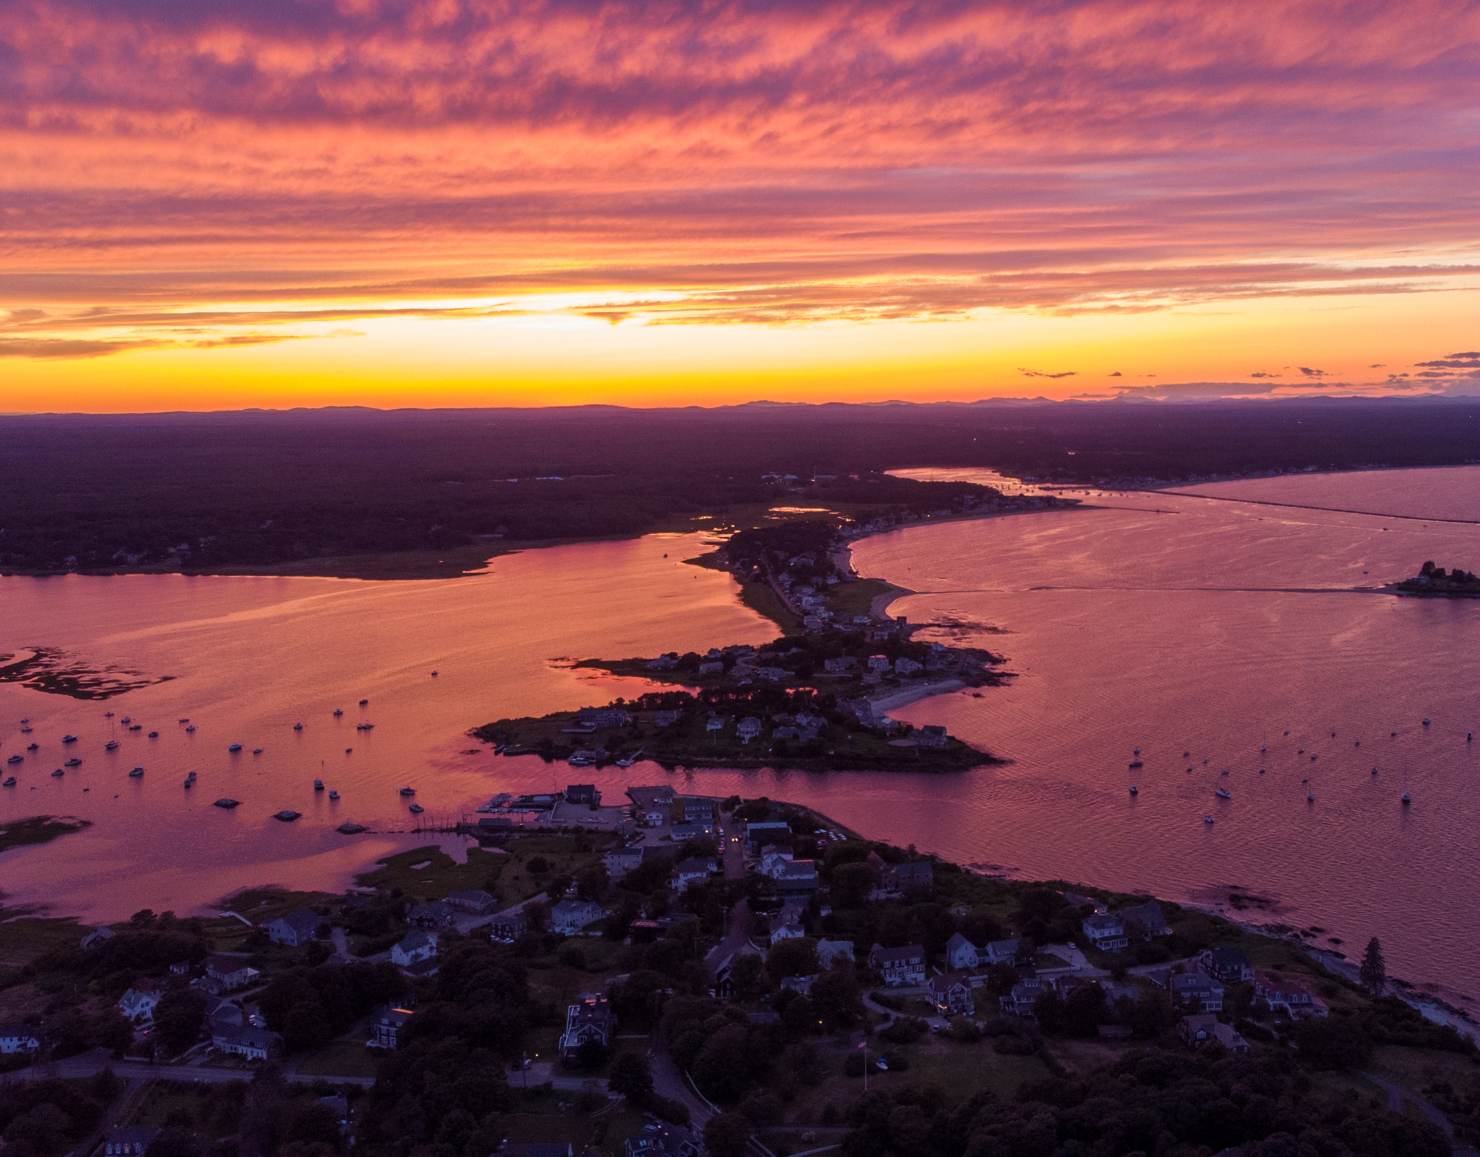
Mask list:
[[[1480,394],[1480,3],[0,0],[0,411]]]

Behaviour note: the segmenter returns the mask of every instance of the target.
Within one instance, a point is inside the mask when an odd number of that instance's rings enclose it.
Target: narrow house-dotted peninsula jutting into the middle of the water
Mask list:
[[[925,516],[1067,505],[975,490],[983,493],[962,493],[953,507]],[[641,758],[669,769],[956,771],[1002,762],[944,728],[901,726],[887,713],[1011,678],[998,670],[1005,660],[990,651],[916,639],[919,626],[884,614],[909,592],[852,574],[850,542],[921,516],[811,518],[739,531],[687,562],[734,576],[741,601],[780,626],[778,639],[761,648],[712,647],[703,655],[577,660],[573,667],[675,689],[579,712],[497,719],[469,734],[496,752],[564,759],[571,766],[630,766]]]

